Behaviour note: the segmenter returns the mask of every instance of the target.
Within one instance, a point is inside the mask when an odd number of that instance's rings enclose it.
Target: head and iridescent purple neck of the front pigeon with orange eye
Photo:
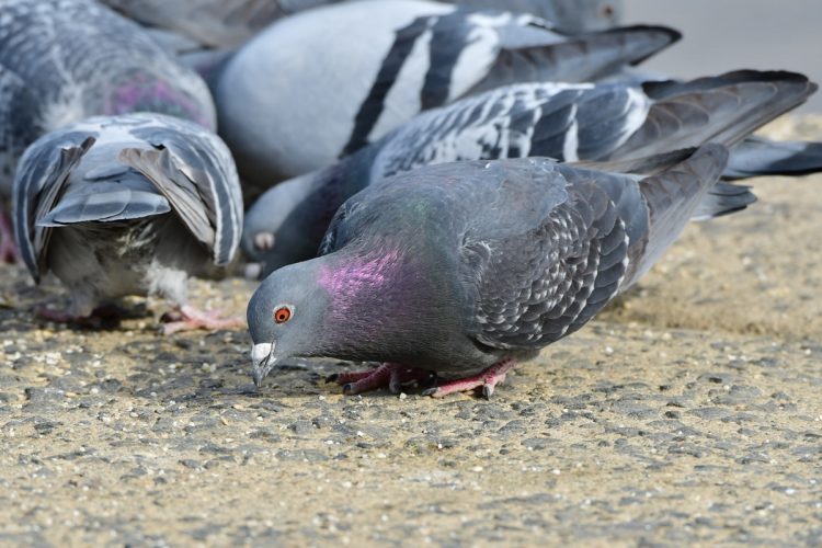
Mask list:
[[[248,307],[255,384],[290,357],[408,361],[453,323],[449,292],[402,244],[353,246],[266,277]],[[448,323],[450,322],[450,323]]]

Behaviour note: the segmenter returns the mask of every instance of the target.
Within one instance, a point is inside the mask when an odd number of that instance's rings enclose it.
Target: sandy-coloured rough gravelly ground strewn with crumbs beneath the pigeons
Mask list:
[[[60,289],[4,266],[0,543],[819,546],[822,176],[753,184],[491,401],[343,397],[334,363],[255,391],[243,331],[44,323]]]

